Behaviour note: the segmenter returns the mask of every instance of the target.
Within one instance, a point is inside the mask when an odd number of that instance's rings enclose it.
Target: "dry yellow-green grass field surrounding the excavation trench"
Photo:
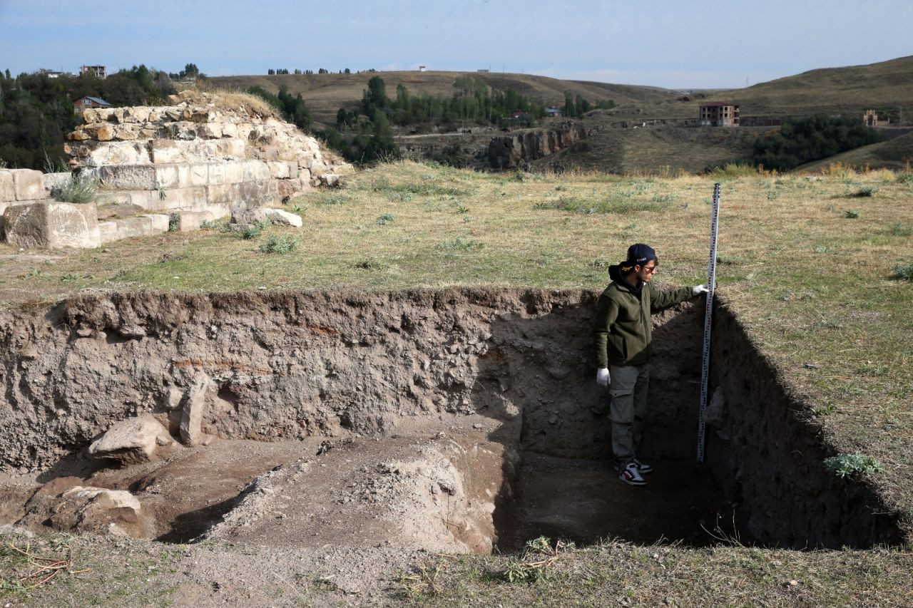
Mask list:
[[[718,293],[802,397],[839,453],[876,458],[868,480],[913,523],[913,177],[733,169],[708,176],[493,174],[399,162],[288,205],[304,227],[245,240],[216,229],[38,257],[0,246],[0,300],[36,309],[82,288],[234,291],[498,285],[601,289],[635,241],[657,280],[704,280],[710,196],[722,183]],[[295,239],[265,253],[270,236]],[[582,328],[582,330],[587,330]],[[658,557],[657,557],[658,556]],[[531,561],[548,560],[539,556]],[[510,561],[513,560],[513,561]],[[498,572],[514,557],[429,557],[397,593],[416,602],[897,605],[904,550],[636,547],[561,552],[540,582]],[[531,562],[530,561],[530,562]],[[520,568],[522,570],[522,568]],[[622,572],[627,578],[620,581]],[[539,576],[536,574],[535,576]],[[791,584],[795,581],[795,584]],[[139,584],[142,584],[139,583]],[[583,590],[583,591],[582,591]],[[588,595],[587,592],[590,594]]]

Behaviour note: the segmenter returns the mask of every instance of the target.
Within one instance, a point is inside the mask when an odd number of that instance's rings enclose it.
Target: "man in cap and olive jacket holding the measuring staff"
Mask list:
[[[707,292],[707,287],[661,291],[650,284],[659,260],[653,247],[636,243],[627,258],[609,267],[612,282],[599,297],[593,341],[599,370],[596,383],[609,386],[612,452],[618,478],[645,486],[653,470],[637,457],[650,382],[650,315]]]

